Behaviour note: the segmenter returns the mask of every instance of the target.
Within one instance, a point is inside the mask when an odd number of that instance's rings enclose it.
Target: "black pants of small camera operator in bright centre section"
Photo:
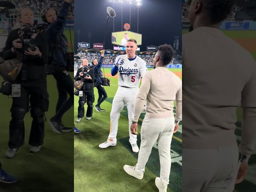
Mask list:
[[[92,104],[94,103],[94,92],[93,90],[83,90],[83,96],[79,97],[78,101],[78,118],[84,117],[84,104],[87,101],[87,112],[86,117],[92,117]]]

